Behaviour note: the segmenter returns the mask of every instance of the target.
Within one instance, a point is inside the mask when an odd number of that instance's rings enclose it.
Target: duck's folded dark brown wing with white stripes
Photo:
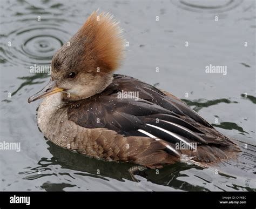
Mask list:
[[[122,98],[119,92],[133,92],[139,98]],[[176,156],[179,153],[173,147],[180,141],[187,146],[191,142],[216,147],[233,144],[180,99],[128,76],[115,75],[102,93],[73,103],[68,118],[89,129],[163,140]]]

